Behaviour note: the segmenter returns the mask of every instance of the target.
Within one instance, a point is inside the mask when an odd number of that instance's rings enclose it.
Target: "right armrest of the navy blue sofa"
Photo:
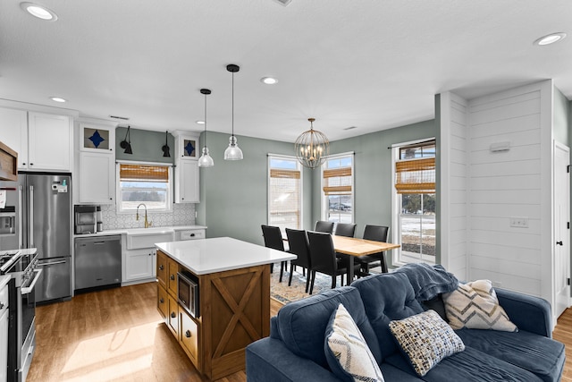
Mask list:
[[[548,301],[506,289],[495,288],[495,291],[502,309],[519,330],[552,337],[551,304]]]

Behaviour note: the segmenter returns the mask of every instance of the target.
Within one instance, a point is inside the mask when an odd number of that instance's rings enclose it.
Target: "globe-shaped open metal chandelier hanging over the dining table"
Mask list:
[[[310,130],[302,132],[294,143],[296,157],[302,166],[316,168],[322,166],[330,154],[330,141],[323,132],[314,130],[315,118],[308,118]]]

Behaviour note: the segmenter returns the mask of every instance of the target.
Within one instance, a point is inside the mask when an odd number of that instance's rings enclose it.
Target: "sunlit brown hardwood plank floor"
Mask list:
[[[271,316],[282,303],[271,299]],[[37,348],[29,382],[206,381],[156,310],[156,284],[139,284],[38,306]],[[554,339],[566,344],[562,381],[572,382],[572,309]],[[244,371],[221,382],[245,382]]]

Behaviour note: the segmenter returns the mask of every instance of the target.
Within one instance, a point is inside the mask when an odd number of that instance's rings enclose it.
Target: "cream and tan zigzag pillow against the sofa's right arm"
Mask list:
[[[489,280],[458,284],[456,291],[443,293],[445,312],[453,329],[492,329],[517,332],[507,313],[499,305],[497,293]]]

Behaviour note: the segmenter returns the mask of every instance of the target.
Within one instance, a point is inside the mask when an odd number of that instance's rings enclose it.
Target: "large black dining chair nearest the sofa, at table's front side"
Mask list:
[[[307,233],[307,240],[310,248],[310,261],[312,270],[310,271],[312,280],[310,281],[310,294],[314,291],[315,272],[332,276],[332,288],[336,287],[336,278],[341,276],[341,286],[343,286],[343,275],[347,273],[345,259],[338,259],[333,248],[332,235],[330,233],[312,232]],[[359,264],[356,264],[357,272]]]

